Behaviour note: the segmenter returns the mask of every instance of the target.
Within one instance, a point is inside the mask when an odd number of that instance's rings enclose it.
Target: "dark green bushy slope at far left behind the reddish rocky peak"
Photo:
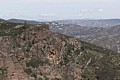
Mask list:
[[[26,28],[28,28],[26,23],[20,24],[4,21],[0,23],[0,36],[16,36],[24,32]]]

